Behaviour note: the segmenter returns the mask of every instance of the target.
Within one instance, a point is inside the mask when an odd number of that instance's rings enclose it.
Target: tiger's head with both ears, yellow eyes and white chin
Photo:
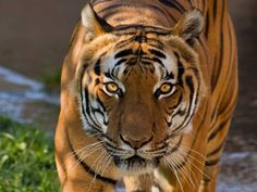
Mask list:
[[[157,167],[192,130],[204,94],[192,46],[204,27],[201,14],[185,13],[172,29],[112,27],[87,5],[82,24],[76,86],[85,132],[105,141],[125,172]]]

